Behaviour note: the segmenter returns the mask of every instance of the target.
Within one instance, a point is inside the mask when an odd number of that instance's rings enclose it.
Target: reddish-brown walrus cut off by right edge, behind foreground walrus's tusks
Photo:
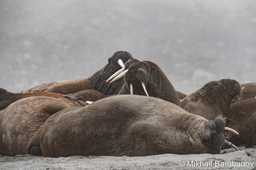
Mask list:
[[[231,142],[239,145],[246,143],[248,147],[256,146],[256,98],[248,98],[230,105],[230,116],[227,126],[236,130]]]

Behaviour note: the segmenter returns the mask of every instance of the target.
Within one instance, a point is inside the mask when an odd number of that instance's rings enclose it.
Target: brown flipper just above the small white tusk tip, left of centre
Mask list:
[[[102,99],[107,97],[106,95],[103,95],[101,92],[96,90],[83,90],[78,91],[76,93],[71,93],[69,95],[65,95],[63,97],[70,98],[71,100],[82,100],[83,102],[86,101],[93,101]]]

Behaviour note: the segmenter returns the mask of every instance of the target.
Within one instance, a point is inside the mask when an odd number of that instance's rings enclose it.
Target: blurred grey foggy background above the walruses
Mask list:
[[[255,82],[256,1],[0,0],[0,87],[87,78],[117,51],[159,65],[187,95]]]

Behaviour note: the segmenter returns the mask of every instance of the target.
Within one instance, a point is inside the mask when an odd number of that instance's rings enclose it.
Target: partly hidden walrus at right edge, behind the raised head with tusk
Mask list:
[[[240,100],[245,100],[248,98],[255,98],[256,97],[256,83],[245,83],[240,85],[241,88],[245,88]],[[234,98],[231,103],[235,103],[239,101],[239,99]]]

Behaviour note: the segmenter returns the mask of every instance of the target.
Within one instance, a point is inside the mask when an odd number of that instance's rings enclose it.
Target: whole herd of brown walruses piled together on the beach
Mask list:
[[[210,81],[186,95],[161,68],[115,52],[88,78],[0,88],[0,154],[218,154],[256,145],[256,83]]]

